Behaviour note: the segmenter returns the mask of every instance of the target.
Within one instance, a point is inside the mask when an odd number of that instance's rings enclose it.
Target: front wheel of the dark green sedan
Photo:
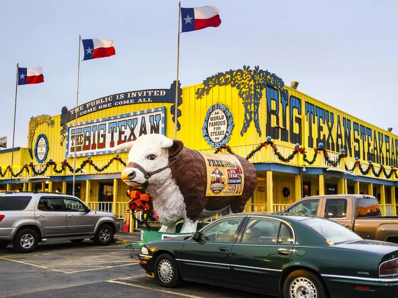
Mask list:
[[[181,283],[176,260],[169,254],[161,254],[155,262],[155,280],[161,287],[175,288]]]

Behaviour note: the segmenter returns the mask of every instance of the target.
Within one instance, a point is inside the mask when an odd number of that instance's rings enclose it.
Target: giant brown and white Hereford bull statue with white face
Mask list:
[[[226,210],[243,212],[252,196],[257,175],[254,166],[234,154],[203,154],[163,135],[143,135],[112,151],[130,149],[121,179],[129,186],[144,186],[153,197],[161,232],[195,232]]]

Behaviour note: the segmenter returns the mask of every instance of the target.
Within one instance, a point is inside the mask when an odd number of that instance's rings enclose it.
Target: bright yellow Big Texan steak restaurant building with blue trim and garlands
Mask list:
[[[60,115],[29,122],[27,148],[0,151],[0,190],[72,194],[76,150],[76,195],[91,208],[127,209],[120,180],[127,152],[110,150],[142,134],[174,139],[175,90],[108,95]],[[398,136],[350,116],[260,68],[218,73],[179,88],[177,139],[185,146],[247,157],[258,173],[246,212],[281,211],[303,196],[364,193],[396,215]],[[76,136],[76,138],[75,138]],[[370,162],[371,161],[371,162]]]

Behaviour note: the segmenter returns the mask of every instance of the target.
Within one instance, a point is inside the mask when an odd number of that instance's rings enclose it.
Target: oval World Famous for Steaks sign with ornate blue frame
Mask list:
[[[221,110],[221,112],[215,111],[217,109]],[[209,131],[208,131],[209,120],[210,120],[210,123],[211,123],[211,121],[214,121],[214,122],[218,121],[218,120],[210,119],[210,115],[212,115],[212,114],[213,114],[212,117],[217,117],[217,116],[222,117],[222,118],[224,118],[224,116],[226,117],[225,120],[227,123],[225,125],[224,124],[220,125],[220,126],[226,126],[226,131],[225,132],[219,131],[220,132],[219,136],[217,136],[217,135],[210,136],[209,135]],[[224,114],[224,115],[222,115],[222,114]],[[222,120],[220,120],[220,121],[222,121]],[[232,120],[232,114],[228,110],[228,108],[221,103],[214,104],[207,110],[206,117],[204,117],[204,123],[203,123],[203,127],[202,127],[203,138],[207,142],[207,144],[213,148],[225,146],[231,139],[231,133],[232,133],[233,127],[234,127],[234,123]],[[217,132],[218,131],[215,131],[213,133],[217,134]]]

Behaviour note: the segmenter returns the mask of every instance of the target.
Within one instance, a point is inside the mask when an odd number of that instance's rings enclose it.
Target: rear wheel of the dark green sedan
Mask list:
[[[300,292],[300,295],[298,295]],[[316,294],[316,295],[311,295]],[[326,286],[314,273],[307,270],[293,271],[285,280],[283,286],[284,298],[329,298]]]

